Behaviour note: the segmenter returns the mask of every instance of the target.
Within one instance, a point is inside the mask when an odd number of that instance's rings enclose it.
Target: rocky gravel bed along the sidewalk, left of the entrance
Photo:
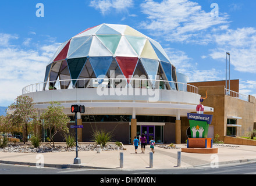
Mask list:
[[[79,145],[78,151],[96,151],[95,144]],[[101,151],[122,151],[123,146],[115,144],[106,144]],[[76,151],[76,147],[67,148],[66,146],[56,146],[52,148],[49,145],[40,145],[38,148],[34,148],[31,145],[8,145],[5,148],[0,148],[0,152],[13,152],[13,153],[45,153],[45,152],[73,152]]]

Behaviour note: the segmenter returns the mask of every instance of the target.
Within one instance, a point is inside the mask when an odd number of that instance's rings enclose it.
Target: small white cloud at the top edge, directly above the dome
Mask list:
[[[133,0],[91,0],[89,6],[100,10],[102,15],[105,15],[112,8],[118,12],[131,8],[133,6]]]

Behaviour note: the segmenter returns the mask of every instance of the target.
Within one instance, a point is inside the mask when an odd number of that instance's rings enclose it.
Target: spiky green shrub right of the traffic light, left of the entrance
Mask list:
[[[104,130],[96,130],[93,133],[93,141],[96,142],[96,144],[105,146],[107,142],[112,140],[112,133],[111,132],[106,132]]]

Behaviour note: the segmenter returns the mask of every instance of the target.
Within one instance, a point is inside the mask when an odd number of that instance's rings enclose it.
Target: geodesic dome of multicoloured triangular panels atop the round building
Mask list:
[[[159,75],[159,79],[176,81],[175,67],[161,45],[120,24],[91,27],[63,42],[47,66],[44,81],[72,79],[60,81],[61,88],[69,87],[70,83],[79,88],[90,86],[90,80],[81,83],[77,79],[101,75],[114,78],[145,75],[152,81]]]

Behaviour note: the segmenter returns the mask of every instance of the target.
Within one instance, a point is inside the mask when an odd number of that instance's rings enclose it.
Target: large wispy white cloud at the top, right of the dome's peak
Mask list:
[[[167,41],[206,44],[211,40],[207,31],[227,23],[226,14],[212,17],[211,12],[205,12],[198,3],[189,0],[146,0],[141,3],[141,11],[148,19],[141,23],[141,28]]]

